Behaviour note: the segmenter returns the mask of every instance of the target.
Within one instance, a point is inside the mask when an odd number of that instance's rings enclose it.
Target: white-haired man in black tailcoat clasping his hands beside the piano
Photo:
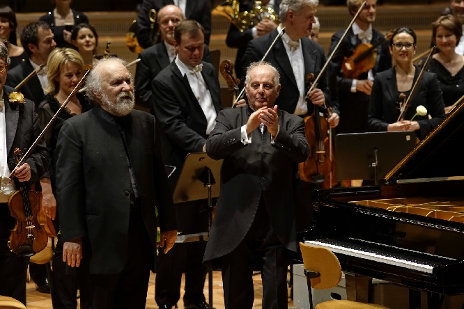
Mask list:
[[[220,111],[206,142],[208,155],[224,163],[203,262],[222,271],[225,308],[252,308],[254,271],[261,271],[263,308],[287,308],[287,269],[297,251],[292,166],[309,146],[302,118],[275,105],[276,68],[253,63],[245,90],[248,105]]]

